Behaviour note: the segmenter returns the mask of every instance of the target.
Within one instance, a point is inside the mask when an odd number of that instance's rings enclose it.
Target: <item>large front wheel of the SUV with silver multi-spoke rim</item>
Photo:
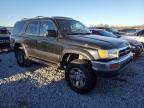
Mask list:
[[[94,88],[97,77],[87,61],[74,60],[65,70],[65,79],[72,90],[85,94]]]

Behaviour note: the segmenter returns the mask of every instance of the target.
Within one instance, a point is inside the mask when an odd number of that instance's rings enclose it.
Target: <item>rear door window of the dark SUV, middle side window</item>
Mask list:
[[[30,22],[26,28],[26,33],[36,35],[38,28],[38,21]]]

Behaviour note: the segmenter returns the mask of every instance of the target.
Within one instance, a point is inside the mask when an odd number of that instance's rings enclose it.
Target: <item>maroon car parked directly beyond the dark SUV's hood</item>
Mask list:
[[[92,31],[93,34],[96,34],[96,35],[106,36],[106,37],[113,37],[113,38],[120,38],[120,39],[128,41],[129,44],[130,44],[131,51],[133,52],[135,57],[140,56],[143,52],[142,44],[140,42],[134,40],[134,39],[131,39],[131,38],[128,38],[128,37],[125,37],[125,36],[117,36],[113,33],[107,32],[103,29],[91,29],[91,31]]]

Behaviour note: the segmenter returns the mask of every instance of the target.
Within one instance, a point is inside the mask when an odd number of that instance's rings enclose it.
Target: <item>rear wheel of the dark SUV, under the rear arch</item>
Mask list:
[[[18,47],[15,49],[15,56],[17,59],[17,63],[21,67],[27,67],[30,65],[30,61],[27,59],[23,48]]]

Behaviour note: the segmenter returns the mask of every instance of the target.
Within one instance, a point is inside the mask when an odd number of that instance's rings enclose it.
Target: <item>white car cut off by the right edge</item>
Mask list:
[[[144,30],[139,30],[138,32],[134,33],[133,35],[127,36],[127,37],[141,42],[144,46]]]

